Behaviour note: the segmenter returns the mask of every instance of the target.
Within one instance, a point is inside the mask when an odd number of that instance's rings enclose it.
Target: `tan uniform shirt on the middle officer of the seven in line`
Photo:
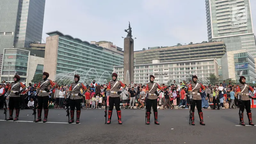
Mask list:
[[[116,84],[116,85],[115,85]],[[115,85],[115,87],[114,87]],[[118,91],[120,91],[119,87],[123,87],[124,89],[126,88],[126,86],[119,80],[116,80],[115,82],[113,80],[111,80],[108,83],[108,88],[107,88],[107,92],[109,92],[109,97],[120,97],[119,94],[117,94]]]

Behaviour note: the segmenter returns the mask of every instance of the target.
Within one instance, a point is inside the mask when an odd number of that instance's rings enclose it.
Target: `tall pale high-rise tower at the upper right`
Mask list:
[[[209,41],[223,41],[227,51],[248,50],[256,58],[250,0],[205,0]]]

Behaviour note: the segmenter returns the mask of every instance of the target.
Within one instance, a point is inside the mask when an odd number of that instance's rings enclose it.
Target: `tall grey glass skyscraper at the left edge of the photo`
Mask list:
[[[0,1],[0,54],[42,40],[45,0]]]

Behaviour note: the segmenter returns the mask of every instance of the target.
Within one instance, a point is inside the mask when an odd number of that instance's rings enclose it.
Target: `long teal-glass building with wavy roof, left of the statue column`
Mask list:
[[[59,31],[46,33],[44,70],[50,79],[62,73],[80,75],[80,79],[103,80],[111,76],[114,66],[123,66],[124,57],[107,52],[104,47],[82,41]]]

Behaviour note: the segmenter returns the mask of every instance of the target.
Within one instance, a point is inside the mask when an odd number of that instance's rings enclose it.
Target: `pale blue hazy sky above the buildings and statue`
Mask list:
[[[256,0],[251,0],[256,28]],[[205,0],[46,0],[43,39],[58,30],[83,41],[124,48],[129,21],[134,51],[207,41]]]

